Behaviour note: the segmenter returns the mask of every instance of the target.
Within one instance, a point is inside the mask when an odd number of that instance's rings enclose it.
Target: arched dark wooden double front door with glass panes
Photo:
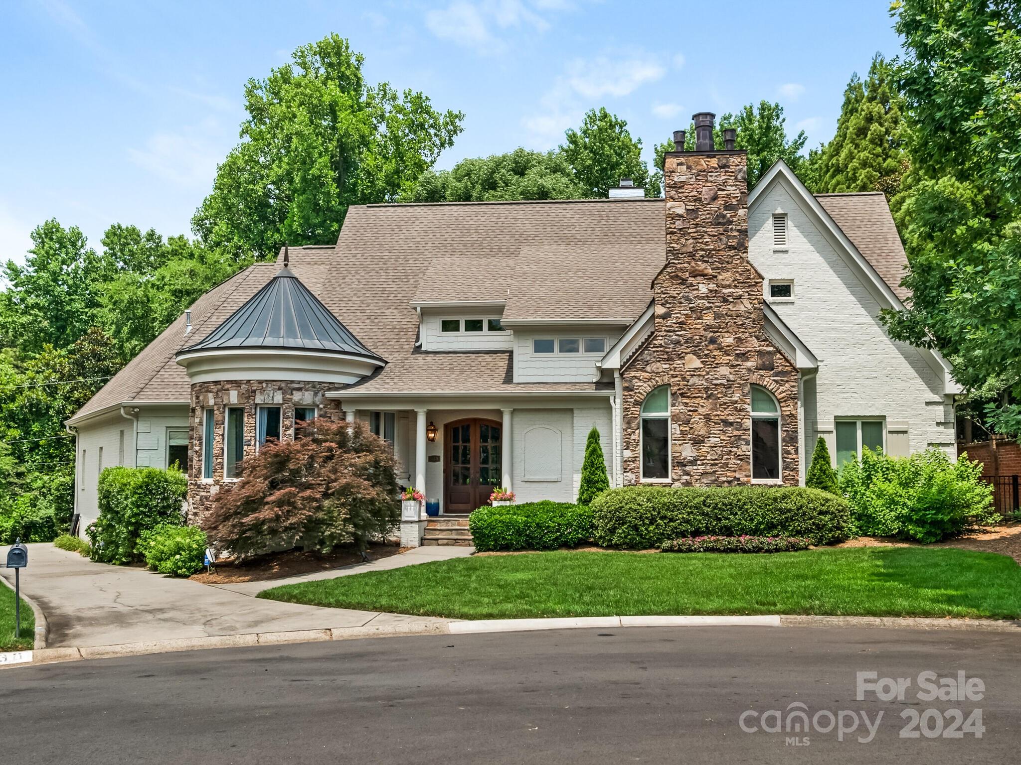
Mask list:
[[[503,425],[459,419],[446,426],[443,459],[444,512],[470,513],[489,504],[503,475]]]

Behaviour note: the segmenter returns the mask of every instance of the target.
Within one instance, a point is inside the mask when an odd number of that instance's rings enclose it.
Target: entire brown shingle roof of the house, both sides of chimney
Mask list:
[[[882,277],[896,287],[904,248],[881,194],[819,202]],[[508,318],[637,318],[666,248],[663,200],[580,200],[351,207],[336,247],[291,248],[291,267],[387,366],[359,391],[591,391],[601,386],[514,384],[509,352],[415,349],[412,299],[486,300],[507,294]],[[126,401],[189,399],[174,354],[202,340],[277,272],[253,265],[192,306],[131,361],[75,419]],[[433,283],[436,284],[433,284]]]

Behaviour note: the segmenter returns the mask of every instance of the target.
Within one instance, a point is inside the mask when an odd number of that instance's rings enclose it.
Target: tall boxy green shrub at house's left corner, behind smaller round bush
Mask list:
[[[99,476],[99,517],[86,533],[92,559],[103,563],[142,560],[138,542],[158,525],[182,525],[188,478],[180,470],[108,467]]]

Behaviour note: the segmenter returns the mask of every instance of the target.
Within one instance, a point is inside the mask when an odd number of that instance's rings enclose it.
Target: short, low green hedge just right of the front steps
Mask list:
[[[475,549],[556,550],[592,538],[592,512],[568,502],[480,507],[469,519]]]

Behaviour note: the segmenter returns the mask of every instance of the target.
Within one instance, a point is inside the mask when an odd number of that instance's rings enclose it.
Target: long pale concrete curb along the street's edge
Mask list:
[[[382,626],[338,627],[334,629],[297,629],[277,632],[249,632],[173,641],[121,643],[113,646],[81,648],[44,648],[0,654],[0,668],[17,665],[54,664],[82,659],[108,659],[181,651],[249,646],[284,646],[298,643],[362,640],[367,638],[406,638],[422,634],[486,634],[526,632],[547,629],[592,629],[613,627],[815,627],[879,628],[923,630],[971,630],[1021,633],[1021,620],[932,619],[889,616],[584,616],[549,619],[478,619],[470,621],[424,622]]]

